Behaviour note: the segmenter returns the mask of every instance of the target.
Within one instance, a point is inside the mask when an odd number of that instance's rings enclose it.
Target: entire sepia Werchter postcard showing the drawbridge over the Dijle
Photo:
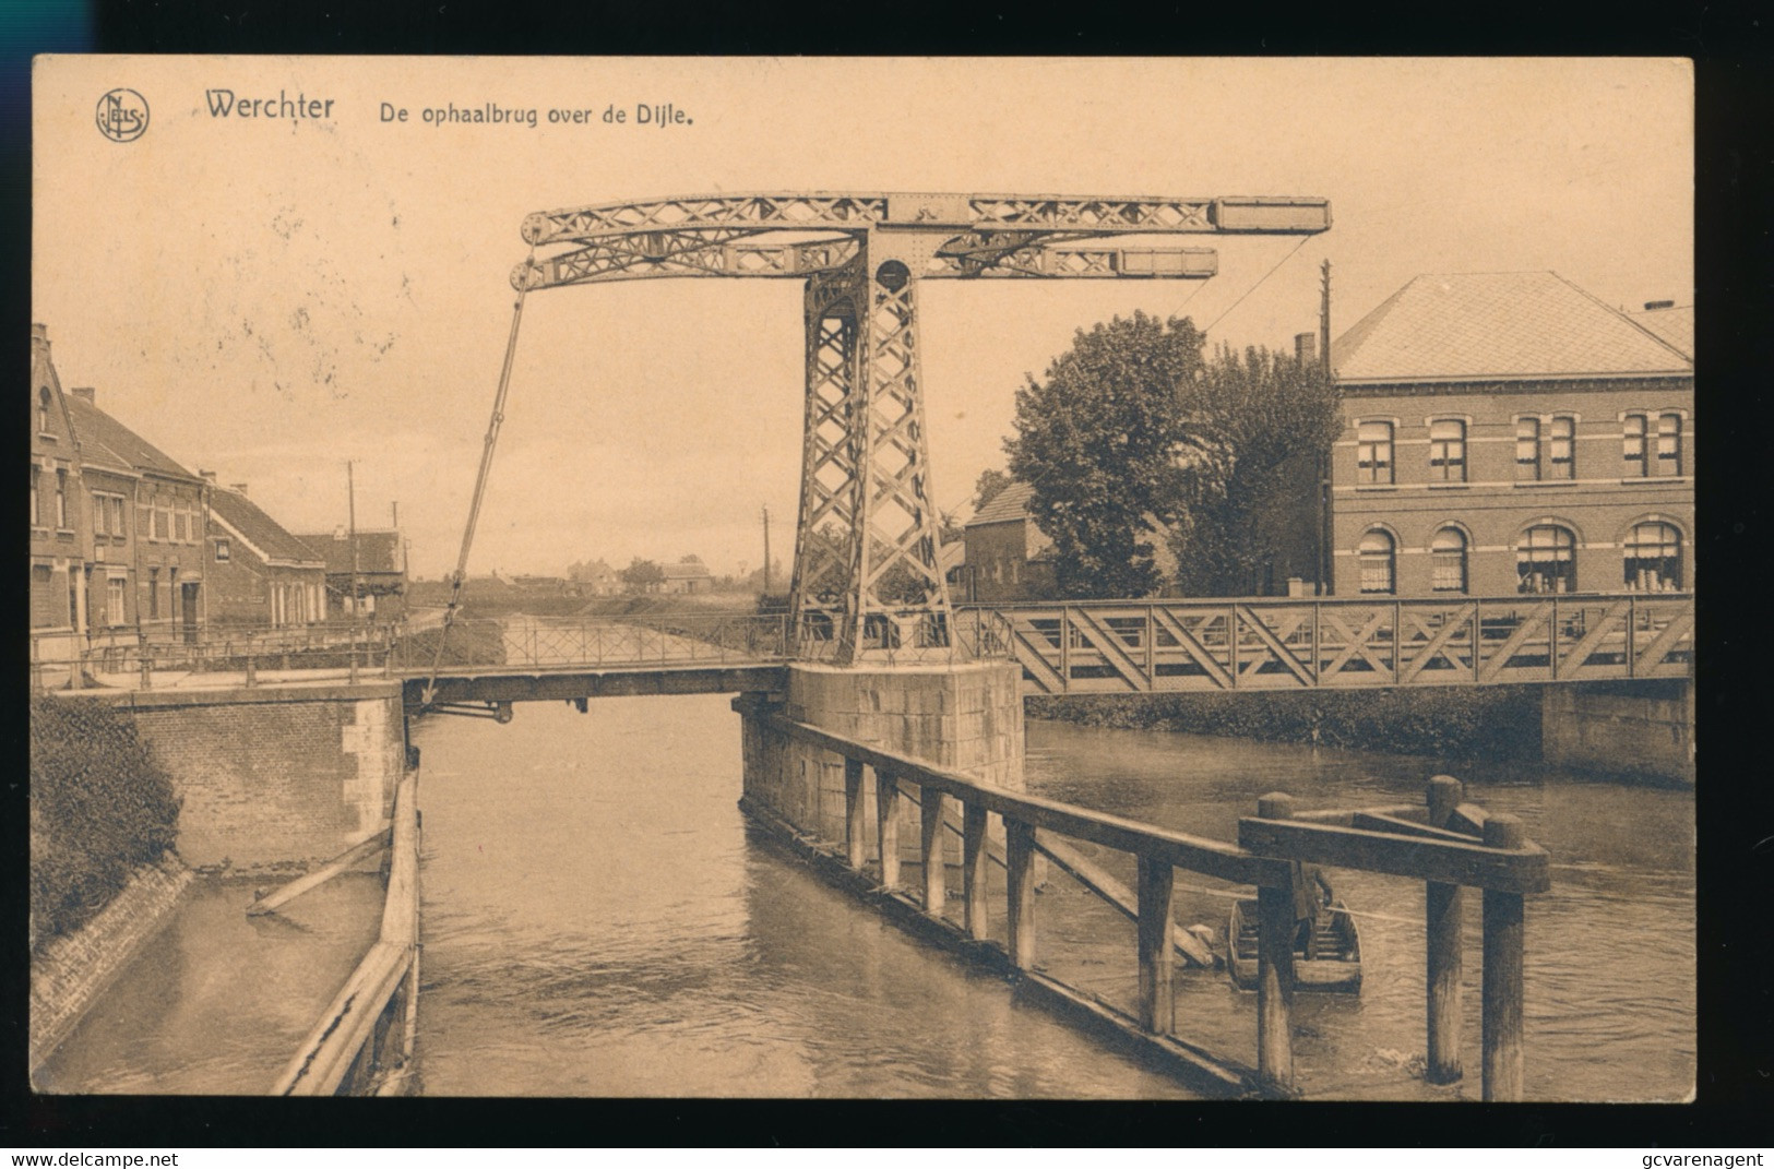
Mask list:
[[[30,99],[34,1093],[1694,1100],[1691,60]]]

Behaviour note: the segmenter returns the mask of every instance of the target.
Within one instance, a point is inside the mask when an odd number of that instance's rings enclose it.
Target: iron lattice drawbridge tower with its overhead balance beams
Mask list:
[[[958,651],[930,498],[921,280],[1206,279],[1213,248],[1139,238],[1329,227],[1325,199],[1295,197],[708,195],[530,215],[534,250],[511,282],[520,294],[665,277],[805,282],[793,653],[850,665]]]

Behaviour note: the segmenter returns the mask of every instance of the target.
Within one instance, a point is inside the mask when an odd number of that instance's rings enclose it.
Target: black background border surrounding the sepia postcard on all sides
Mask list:
[[[21,5],[23,7],[23,5]],[[1774,816],[1769,752],[1751,736],[1767,720],[1770,671],[1763,624],[1739,616],[1762,605],[1767,561],[1765,435],[1774,433],[1774,18],[1739,4],[1485,5],[1432,18],[1421,5],[1391,12],[1323,5],[1313,12],[1236,12],[1197,5],[1144,9],[1038,9],[857,5],[795,11],[726,5],[685,14],[665,5],[608,5],[575,12],[550,5],[475,9],[467,0],[380,5],[174,4],[94,0],[82,9],[39,4],[0,18],[0,197],[7,255],[28,255],[28,55],[37,51],[279,51],[279,53],[1196,53],[1196,55],[1676,55],[1696,59],[1698,239],[1701,305],[1699,397],[1717,413],[1699,440],[1701,722],[1707,781],[1699,820],[1699,1040],[1696,1105],[1524,1105],[1448,1110],[1426,1105],[1087,1105],[380,1100],[270,1102],[257,1098],[28,1096],[23,1080],[25,979],[16,965],[25,931],[25,800],[5,788],[12,848],[4,899],[14,961],[0,1141],[43,1148],[106,1144],[1554,1144],[1698,1146],[1765,1144],[1762,1107],[1774,1086]],[[600,5],[603,7],[603,5]],[[326,11],[330,9],[330,11]],[[1265,20],[1267,16],[1267,20]],[[1242,18],[1242,20],[1240,20]],[[1233,28],[1233,21],[1240,27]],[[1087,28],[1087,32],[1086,32]],[[1187,112],[1183,112],[1185,115]],[[1623,239],[1621,247],[1632,247]],[[9,282],[7,326],[25,337],[28,271]],[[18,488],[14,488],[18,490]],[[14,511],[16,513],[16,511]],[[0,589],[23,612],[23,573]],[[25,660],[23,630],[14,632]],[[1760,667],[1760,669],[1758,669]],[[23,671],[7,702],[23,773]],[[1646,945],[1655,945],[1646,938]]]

